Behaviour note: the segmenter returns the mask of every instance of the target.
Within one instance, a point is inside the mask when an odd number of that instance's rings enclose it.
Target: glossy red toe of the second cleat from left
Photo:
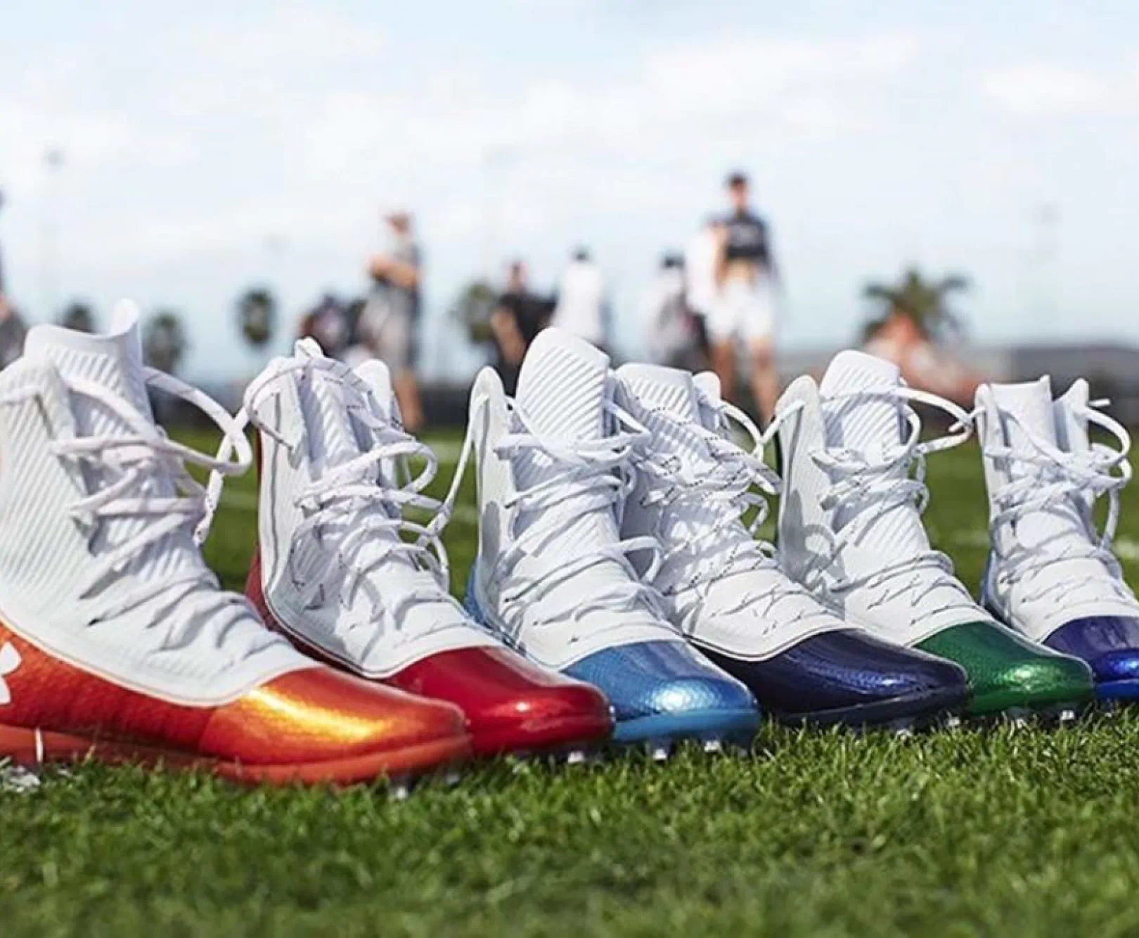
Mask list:
[[[613,728],[609,702],[600,691],[509,649],[441,652],[387,683],[459,707],[478,755],[589,742]]]

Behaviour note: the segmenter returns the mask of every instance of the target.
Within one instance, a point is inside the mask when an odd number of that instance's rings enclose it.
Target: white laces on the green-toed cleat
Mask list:
[[[850,391],[833,394],[827,399],[830,403],[855,400],[887,400],[902,406],[908,434],[903,442],[885,448],[882,458],[877,460],[868,459],[863,454],[847,448],[826,448],[809,454],[811,459],[835,480],[830,490],[822,497],[821,507],[828,512],[842,507],[846,520],[833,532],[834,540],[829,555],[816,557],[804,571],[804,584],[808,588],[814,588],[829,573],[827,589],[831,593],[846,593],[862,587],[871,589],[885,587],[868,607],[872,609],[908,596],[910,609],[915,611],[911,612],[911,625],[917,619],[916,610],[921,601],[940,588],[945,588],[953,598],[936,609],[924,610],[924,614],[957,607],[972,609],[974,604],[969,594],[953,577],[952,561],[941,550],[911,554],[862,574],[835,574],[835,561],[841,558],[847,546],[857,545],[866,529],[882,514],[902,505],[912,506],[918,514],[925,511],[929,500],[929,491],[925,486],[925,457],[931,452],[960,446],[972,432],[969,414],[962,408],[936,394],[906,385]],[[950,425],[949,434],[921,442],[921,419],[908,406],[910,402],[935,407],[953,417],[954,423]],[[764,433],[764,439],[770,439],[779,425],[802,407],[802,402],[796,402],[777,416]],[[913,468],[912,476],[911,468]]]

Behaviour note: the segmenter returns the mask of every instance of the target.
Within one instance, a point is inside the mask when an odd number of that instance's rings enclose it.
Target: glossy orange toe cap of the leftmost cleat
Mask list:
[[[469,737],[462,712],[314,667],[282,675],[214,710],[204,753],[245,765],[313,764]]]

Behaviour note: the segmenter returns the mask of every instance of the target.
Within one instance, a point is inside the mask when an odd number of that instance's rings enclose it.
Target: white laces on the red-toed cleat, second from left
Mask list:
[[[347,609],[357,590],[363,590],[371,605],[368,627],[378,626],[369,637],[363,654],[388,629],[402,630],[408,620],[404,613],[417,603],[445,603],[458,619],[466,621],[462,607],[450,595],[450,562],[442,541],[451,506],[444,506],[423,492],[439,472],[439,457],[426,443],[372,413],[368,405],[371,389],[351,368],[330,358],[289,359],[277,370],[261,375],[249,384],[245,392],[245,406],[235,418],[237,429],[240,431],[253,424],[286,449],[297,446],[297,441],[285,439],[276,427],[257,416],[263,400],[276,393],[274,385],[292,380],[295,372],[321,372],[325,378],[346,389],[344,397],[352,418],[363,424],[375,440],[370,449],[326,472],[322,479],[305,486],[294,496],[294,504],[301,508],[304,520],[294,532],[286,564],[294,582],[302,588],[304,604],[319,603],[322,597],[335,595]],[[222,442],[219,458],[226,458],[228,444],[228,441]],[[412,475],[408,467],[409,457],[424,462],[417,475]],[[404,478],[402,486],[385,484],[380,466],[388,460]],[[210,479],[210,514],[197,532],[202,540],[208,533],[222,482],[222,476],[218,474]],[[433,515],[426,524],[420,524],[403,516],[407,508],[433,512]],[[380,531],[395,537],[380,541],[370,537]],[[413,535],[416,539],[405,541],[401,538],[403,533]],[[312,537],[321,543],[329,540],[335,547],[323,549],[320,568],[308,571],[302,580],[294,568],[296,545]],[[380,549],[363,561],[359,556],[360,548],[369,543],[378,543]],[[395,556],[404,556],[417,570],[428,572],[432,587],[382,590],[372,573]],[[398,595],[394,603],[391,601],[393,593]],[[362,625],[357,622],[351,628]]]

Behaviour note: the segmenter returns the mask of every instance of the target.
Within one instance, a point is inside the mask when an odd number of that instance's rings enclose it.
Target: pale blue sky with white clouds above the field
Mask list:
[[[661,252],[735,168],[788,346],[852,339],[863,284],[909,264],[972,278],[977,341],[1139,344],[1130,1],[7,0],[0,63],[9,294],[181,310],[190,376],[253,367],[249,285],[289,324],[362,293],[399,207],[429,370],[469,367],[434,341],[464,283],[523,256],[552,285],[581,243],[636,356]]]

